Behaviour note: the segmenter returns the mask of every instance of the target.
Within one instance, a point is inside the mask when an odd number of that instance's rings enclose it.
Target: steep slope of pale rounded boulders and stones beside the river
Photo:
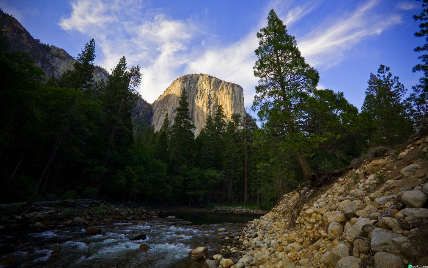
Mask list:
[[[204,268],[428,265],[428,137],[288,193]],[[235,254],[233,257],[229,257]]]

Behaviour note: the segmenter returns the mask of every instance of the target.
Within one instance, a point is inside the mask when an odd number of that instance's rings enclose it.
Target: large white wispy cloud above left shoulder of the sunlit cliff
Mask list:
[[[189,44],[202,32],[192,18],[174,20],[141,1],[120,4],[77,0],[72,13],[59,25],[95,38],[104,55],[97,64],[112,69],[125,54],[129,65],[139,64],[143,73],[140,93],[150,102],[181,75],[191,55]]]

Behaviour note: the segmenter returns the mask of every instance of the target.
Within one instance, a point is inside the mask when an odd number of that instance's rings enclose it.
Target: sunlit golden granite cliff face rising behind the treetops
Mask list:
[[[166,113],[169,115],[169,126],[174,123],[175,108],[178,107],[183,90],[187,92],[190,117],[196,126],[196,135],[204,128],[208,115],[214,117],[218,105],[223,105],[227,121],[232,114],[245,114],[244,90],[241,86],[211,75],[183,75],[175,79],[152,104],[151,122],[156,130],[162,126]]]

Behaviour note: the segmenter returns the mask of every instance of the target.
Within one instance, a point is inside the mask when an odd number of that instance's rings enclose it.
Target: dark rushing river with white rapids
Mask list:
[[[177,219],[159,218],[142,224],[116,223],[100,226],[101,235],[86,235],[81,227],[49,231],[3,232],[0,235],[0,267],[46,268],[128,268],[128,267],[202,267],[203,261],[191,260],[189,251],[199,246],[208,255],[218,253],[232,240],[219,238],[217,229],[233,235],[260,214],[175,213]],[[163,215],[167,216],[166,215]],[[131,241],[144,233],[145,240]],[[139,250],[141,244],[150,249]]]

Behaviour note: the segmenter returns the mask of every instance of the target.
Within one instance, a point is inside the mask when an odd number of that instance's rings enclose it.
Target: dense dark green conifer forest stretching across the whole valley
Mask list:
[[[422,21],[415,35],[426,37],[426,1],[423,7],[414,16]],[[274,10],[257,37],[259,84],[251,109],[259,126],[250,111],[226,120],[219,106],[195,137],[185,91],[171,127],[168,114],[159,131],[132,122],[140,67],[127,66],[122,57],[109,81],[95,82],[94,39],[73,71],[45,79],[29,54],[9,50],[2,31],[0,202],[100,198],[270,208],[299,184],[322,185],[335,171],[426,129],[428,54],[413,69],[423,75],[408,95],[398,76],[380,64],[368,74],[359,111],[342,92],[317,88],[318,71],[305,62]],[[415,49],[427,50],[428,40]]]

